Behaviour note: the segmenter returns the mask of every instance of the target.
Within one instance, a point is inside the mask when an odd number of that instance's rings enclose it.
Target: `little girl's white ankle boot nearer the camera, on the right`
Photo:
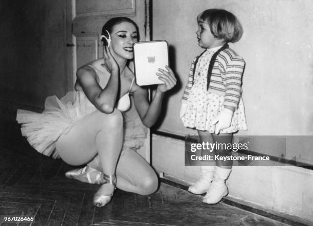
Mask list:
[[[217,204],[223,197],[228,195],[228,188],[225,180],[228,178],[231,169],[215,167],[213,182],[203,198],[206,204]]]

